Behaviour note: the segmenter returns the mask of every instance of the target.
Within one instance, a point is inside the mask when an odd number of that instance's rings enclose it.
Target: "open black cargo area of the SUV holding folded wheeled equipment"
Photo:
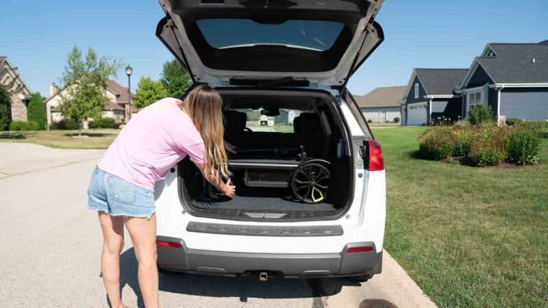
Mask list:
[[[219,90],[236,195],[227,198],[184,159],[179,194],[197,216],[314,219],[343,213],[353,179],[348,136],[325,92]]]

